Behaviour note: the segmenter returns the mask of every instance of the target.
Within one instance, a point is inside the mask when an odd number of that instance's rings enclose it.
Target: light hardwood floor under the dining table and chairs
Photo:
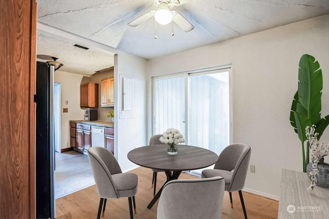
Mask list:
[[[148,168],[139,167],[130,172],[136,173],[138,175],[138,192],[135,196],[137,214],[134,214],[134,218],[156,218],[157,203],[152,207],[152,209],[147,208],[147,205],[153,198],[153,188],[151,188],[152,171]],[[181,173],[179,178],[182,179],[197,177],[186,173]],[[165,180],[165,173],[159,172],[157,189],[159,189],[162,184],[165,183]],[[231,208],[230,205],[228,192],[224,193],[222,218],[244,218],[239,193],[232,192],[232,196],[233,208]],[[246,192],[243,192],[243,196],[248,218],[278,218],[279,202]],[[58,200],[56,200],[56,218],[96,218],[99,200],[100,197],[97,194],[96,185],[58,198]],[[101,218],[130,218],[128,198],[107,200],[105,215]]]

